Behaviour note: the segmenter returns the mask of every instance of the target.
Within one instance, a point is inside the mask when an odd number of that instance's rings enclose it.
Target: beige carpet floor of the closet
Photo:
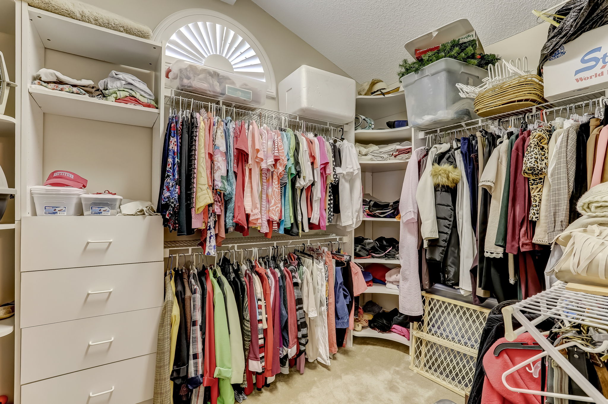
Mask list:
[[[254,391],[244,404],[434,404],[465,399],[410,371],[409,348],[394,341],[355,337],[331,366],[306,363],[303,375],[278,374],[270,388]]]

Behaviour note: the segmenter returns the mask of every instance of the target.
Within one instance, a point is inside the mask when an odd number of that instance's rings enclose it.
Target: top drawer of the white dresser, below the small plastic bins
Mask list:
[[[162,261],[160,216],[22,217],[21,272]]]

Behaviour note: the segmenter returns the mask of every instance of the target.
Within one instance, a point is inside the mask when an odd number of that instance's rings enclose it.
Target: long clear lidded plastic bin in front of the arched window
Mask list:
[[[167,70],[167,85],[176,90],[210,95],[221,100],[262,106],[268,84],[255,78],[178,60]]]

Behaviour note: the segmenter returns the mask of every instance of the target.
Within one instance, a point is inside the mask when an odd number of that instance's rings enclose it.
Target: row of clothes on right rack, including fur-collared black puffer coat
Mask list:
[[[420,179],[413,187],[406,171],[401,199],[415,194],[420,235],[410,236],[407,216],[400,247],[418,245],[421,252],[413,262],[404,255],[402,268],[414,265],[410,273],[420,274],[415,281],[422,289],[440,282],[471,293],[477,304],[490,295],[505,301],[544,290],[548,245],[580,216],[579,197],[608,172],[602,123],[572,114],[479,129],[415,151]],[[401,310],[420,315],[419,298],[403,288],[410,282],[401,279]]]

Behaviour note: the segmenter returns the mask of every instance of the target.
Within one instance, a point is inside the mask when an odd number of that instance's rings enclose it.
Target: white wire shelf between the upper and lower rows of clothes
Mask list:
[[[227,238],[222,241],[222,245],[217,248],[224,250],[238,250],[238,247],[250,246],[250,245],[297,245],[297,244],[314,244],[316,242],[328,242],[328,241],[341,241],[344,236],[338,235],[310,235],[305,237],[290,237],[290,236],[277,236],[273,238],[265,237],[239,237],[239,238]],[[198,240],[184,240],[184,241],[167,241],[165,242],[165,258],[171,253],[188,253],[191,254],[194,250],[201,248],[198,245]]]

